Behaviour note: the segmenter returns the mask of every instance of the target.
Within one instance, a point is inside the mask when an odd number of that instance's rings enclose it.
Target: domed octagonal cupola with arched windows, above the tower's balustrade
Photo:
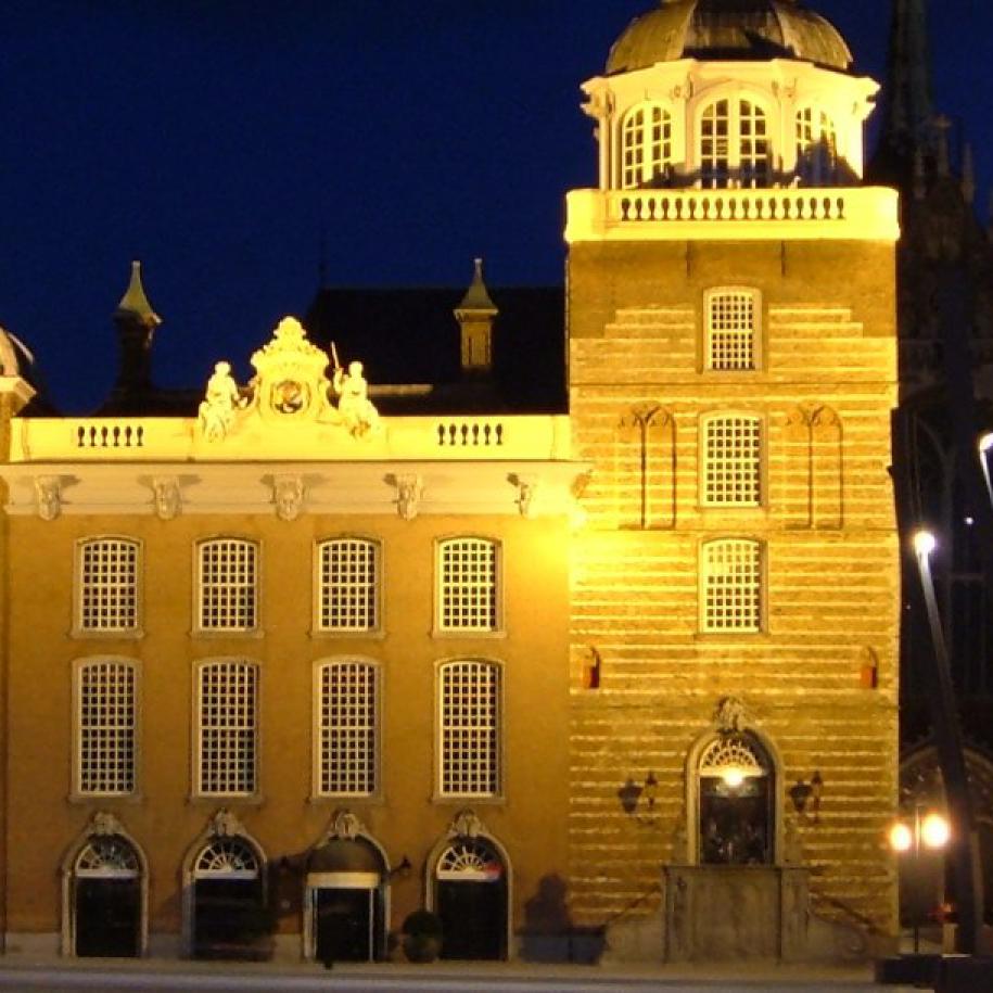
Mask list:
[[[661,0],[583,86],[600,189],[851,183],[878,90],[851,64],[793,0]]]

